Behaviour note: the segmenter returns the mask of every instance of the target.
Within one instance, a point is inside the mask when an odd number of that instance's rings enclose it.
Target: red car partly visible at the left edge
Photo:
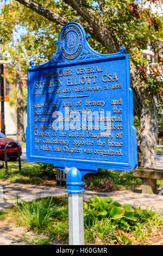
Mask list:
[[[15,143],[18,144],[18,147],[20,148],[20,156],[22,155],[22,147],[21,147],[20,142],[15,141],[15,139],[10,139],[7,136],[5,136],[2,132],[0,132],[0,159],[4,159],[5,145],[7,145],[10,142],[15,142]],[[17,159],[18,151],[17,151],[17,147],[14,144],[8,145],[7,157],[10,160],[16,160]]]

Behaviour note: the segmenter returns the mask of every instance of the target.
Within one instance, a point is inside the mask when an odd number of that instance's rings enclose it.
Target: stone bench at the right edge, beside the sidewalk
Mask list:
[[[142,179],[143,194],[153,194],[156,192],[156,180],[163,180],[163,169],[138,168],[133,171],[133,176]]]

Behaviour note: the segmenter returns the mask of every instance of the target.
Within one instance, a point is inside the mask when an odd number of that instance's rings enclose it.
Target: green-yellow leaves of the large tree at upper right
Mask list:
[[[85,25],[83,18],[76,16],[74,9],[63,2],[71,1],[59,1],[56,4],[58,8],[62,7],[61,15],[68,16],[70,21],[77,21]],[[43,1],[42,4],[44,4]],[[112,35],[117,45],[126,47],[126,52],[130,54],[131,62],[136,65],[137,73],[140,75],[139,83],[148,89],[146,102],[151,95],[155,95],[159,107],[161,107],[163,87],[161,77],[162,17],[156,11],[154,13],[152,9],[154,5],[159,7],[161,1],[147,0],[144,4],[141,1],[133,0],[107,0],[96,3],[93,0],[88,0],[85,5],[91,10],[90,13],[97,23],[98,20],[102,20],[104,26],[106,25],[108,33]],[[106,53],[104,41],[99,38],[91,40],[90,44],[96,51]],[[147,48],[154,52],[154,60],[151,57],[146,58],[141,53],[141,50]],[[109,51],[109,48],[107,50]]]

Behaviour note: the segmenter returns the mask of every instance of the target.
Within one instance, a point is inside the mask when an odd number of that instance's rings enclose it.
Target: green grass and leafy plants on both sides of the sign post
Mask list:
[[[121,212],[121,214],[120,214]],[[0,220],[9,219],[17,226],[46,235],[35,237],[36,245],[48,245],[57,239],[68,242],[68,202],[65,197],[35,199],[16,203],[0,212]],[[162,232],[162,215],[99,198],[84,202],[85,244],[143,245]]]

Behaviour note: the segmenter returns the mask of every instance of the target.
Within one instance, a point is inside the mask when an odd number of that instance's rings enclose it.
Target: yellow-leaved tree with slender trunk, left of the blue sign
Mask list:
[[[24,106],[21,74],[22,72],[26,74],[27,68],[30,67],[31,58],[36,64],[52,58],[52,52],[49,49],[54,45],[54,38],[50,35],[55,35],[56,29],[54,26],[51,28],[51,24],[48,24],[46,20],[42,22],[40,15],[35,15],[34,18],[37,23],[33,26],[33,22],[31,22],[33,13],[28,11],[28,15],[24,14],[23,5],[20,7],[16,1],[6,2],[2,0],[1,2],[0,35],[3,38],[2,51],[4,54],[0,63],[7,65],[9,76],[6,78],[10,83],[16,83],[17,86],[17,140],[24,142],[26,139],[23,125]],[[47,32],[43,32],[44,26],[48,26]],[[26,28],[24,33],[21,32],[23,28]],[[40,28],[41,31],[39,32]]]

